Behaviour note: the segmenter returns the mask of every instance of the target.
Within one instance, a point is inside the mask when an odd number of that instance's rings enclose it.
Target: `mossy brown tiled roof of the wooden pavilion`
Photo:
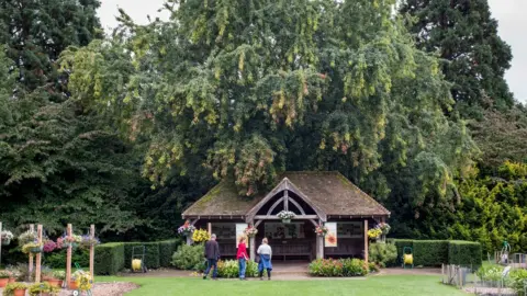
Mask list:
[[[277,187],[285,178],[295,190],[300,191],[300,194],[304,195],[305,200],[326,216],[345,218],[390,215],[386,208],[338,172],[285,172],[281,175]],[[228,216],[245,218],[267,195],[267,193],[260,193],[253,197],[239,196],[234,182],[222,181],[187,208],[182,216],[183,218]]]

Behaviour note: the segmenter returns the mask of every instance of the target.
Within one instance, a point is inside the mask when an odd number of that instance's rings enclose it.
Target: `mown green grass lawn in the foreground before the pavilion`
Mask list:
[[[98,276],[97,282],[133,282],[141,288],[126,296],[154,295],[467,295],[453,287],[439,283],[439,276],[385,275],[367,280],[327,281],[256,281],[237,280],[203,281],[181,277],[115,277]]]

